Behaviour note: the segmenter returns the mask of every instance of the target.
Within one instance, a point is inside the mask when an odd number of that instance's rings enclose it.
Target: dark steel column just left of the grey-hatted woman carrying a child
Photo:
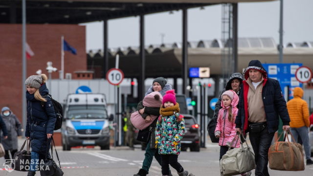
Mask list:
[[[140,74],[138,80],[138,101],[143,99],[144,90],[145,90],[145,20],[144,15],[140,15]]]

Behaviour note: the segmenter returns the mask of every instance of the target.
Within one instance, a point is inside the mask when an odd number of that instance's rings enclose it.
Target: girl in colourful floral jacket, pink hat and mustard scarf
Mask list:
[[[161,154],[162,175],[169,176],[169,164],[176,169],[179,176],[188,176],[179,164],[180,140],[185,134],[185,121],[179,114],[175,90],[168,90],[163,97],[160,116],[156,122],[156,146]],[[194,176],[189,174],[189,176]]]

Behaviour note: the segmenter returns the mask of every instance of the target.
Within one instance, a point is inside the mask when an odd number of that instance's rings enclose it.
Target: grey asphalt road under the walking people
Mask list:
[[[112,148],[110,151],[95,149],[72,149],[64,152],[58,148],[64,176],[133,176],[141,168],[144,151],[138,148],[130,150],[127,147]],[[201,152],[182,152],[179,162],[185,170],[196,176],[220,176],[219,147],[208,144]],[[54,157],[56,160],[56,157]],[[3,168],[3,157],[0,158],[0,176],[26,176],[27,173],[12,171]],[[171,168],[174,176],[178,176]],[[313,166],[306,167],[305,171],[274,171],[269,169],[271,176],[313,176]],[[37,172],[36,176],[40,175]],[[149,176],[161,176],[161,169],[154,160]],[[254,174],[252,174],[254,176]]]

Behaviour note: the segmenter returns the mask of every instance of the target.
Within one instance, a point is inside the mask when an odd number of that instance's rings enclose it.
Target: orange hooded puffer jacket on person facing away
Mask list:
[[[287,102],[291,128],[309,127],[310,125],[308,104],[302,99],[302,96],[302,88],[296,87],[293,90],[294,98]]]

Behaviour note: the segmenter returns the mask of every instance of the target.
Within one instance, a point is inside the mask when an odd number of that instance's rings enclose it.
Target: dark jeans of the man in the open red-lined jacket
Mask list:
[[[250,142],[255,155],[255,176],[269,176],[268,150],[273,137],[274,132],[268,133],[268,127],[265,127],[261,132],[249,132]]]

